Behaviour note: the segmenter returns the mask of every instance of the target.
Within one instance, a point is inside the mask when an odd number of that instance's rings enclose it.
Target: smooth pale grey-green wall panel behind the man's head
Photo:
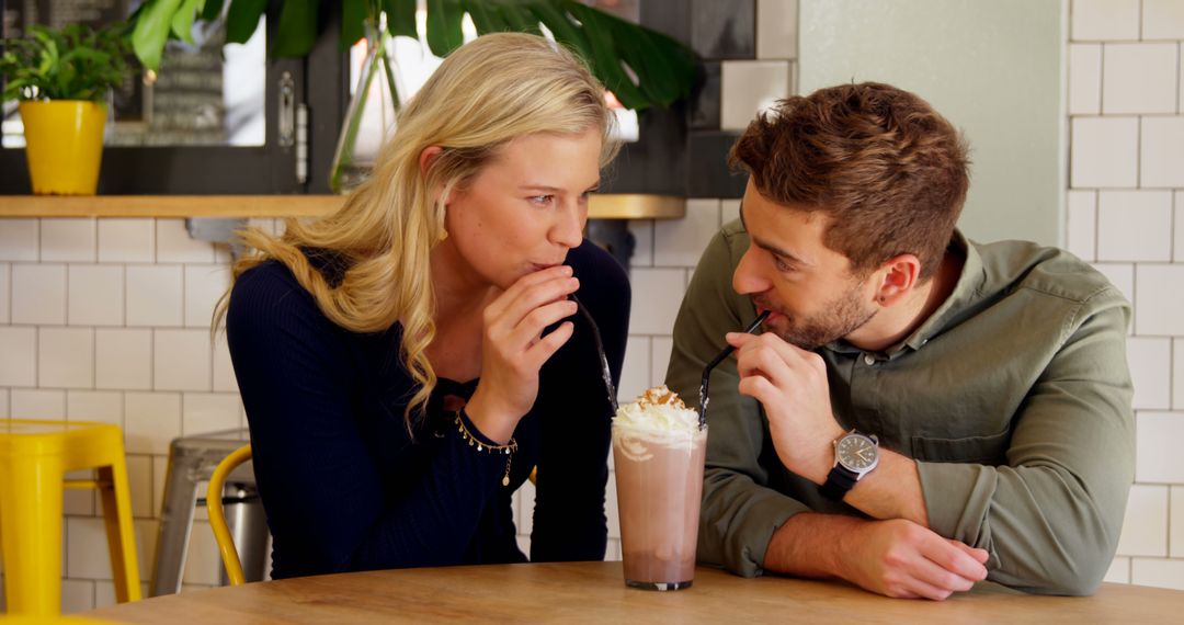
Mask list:
[[[803,0],[800,90],[876,80],[929,101],[971,143],[959,226],[1061,245],[1066,0]]]

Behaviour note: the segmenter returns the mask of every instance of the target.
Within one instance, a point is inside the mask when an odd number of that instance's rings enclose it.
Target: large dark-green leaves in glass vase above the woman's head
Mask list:
[[[270,41],[271,56],[309,53],[322,30],[321,4],[321,0],[282,0],[276,34]],[[194,22],[225,19],[226,41],[245,43],[266,7],[266,0],[146,0],[131,17],[133,47],[144,67],[155,71],[168,39],[191,41]],[[368,56],[329,173],[330,187],[339,192],[356,168],[349,152],[366,94],[372,88],[384,89],[387,97],[379,99],[388,102],[393,110],[399,107],[395,70],[386,58],[385,38],[419,39],[417,0],[341,0],[340,7],[342,50],[365,37]],[[546,28],[583,56],[592,73],[628,109],[669,107],[689,95],[696,79],[699,63],[689,47],[578,0],[429,0],[426,7],[426,40],[433,54],[448,56],[463,44],[461,24],[465,14],[477,34],[498,31],[541,34]]]

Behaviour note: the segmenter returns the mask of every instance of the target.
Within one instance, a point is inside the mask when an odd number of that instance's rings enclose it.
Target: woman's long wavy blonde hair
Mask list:
[[[444,200],[514,138],[603,133],[601,167],[616,155],[614,117],[604,86],[561,45],[533,34],[478,37],[451,53],[400,110],[371,176],[332,215],[287,221],[283,236],[242,233],[256,250],[233,277],[274,258],[291,270],[321,311],[356,333],[403,324],[401,361],[418,388],[404,411],[408,431],[436,387],[426,349],[436,336],[429,253],[446,234]],[[443,152],[420,170],[420,153]],[[329,252],[345,268],[330,284],[305,251]],[[225,317],[224,296],[214,327]]]

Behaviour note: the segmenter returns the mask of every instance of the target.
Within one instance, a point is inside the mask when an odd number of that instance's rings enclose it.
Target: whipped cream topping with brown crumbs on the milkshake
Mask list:
[[[655,386],[636,401],[620,406],[612,420],[613,444],[632,460],[649,459],[648,445],[686,446],[706,436],[699,429],[699,413],[665,385]]]

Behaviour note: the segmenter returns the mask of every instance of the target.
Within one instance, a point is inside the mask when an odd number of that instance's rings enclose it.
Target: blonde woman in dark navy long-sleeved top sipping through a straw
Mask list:
[[[562,49],[490,34],[404,108],[337,213],[246,243],[226,308],[275,578],[600,560],[623,269],[583,238],[614,149],[604,90]]]

